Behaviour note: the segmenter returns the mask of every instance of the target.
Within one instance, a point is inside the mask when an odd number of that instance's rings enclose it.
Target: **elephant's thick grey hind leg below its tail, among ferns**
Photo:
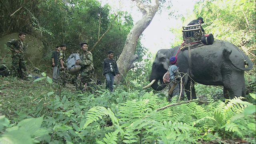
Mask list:
[[[244,72],[232,73],[232,78],[223,79],[224,88],[228,90],[230,99],[245,96]],[[226,98],[226,97],[225,97]]]

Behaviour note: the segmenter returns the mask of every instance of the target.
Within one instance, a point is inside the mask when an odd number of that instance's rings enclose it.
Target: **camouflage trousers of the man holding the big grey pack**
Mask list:
[[[93,80],[93,73],[81,72],[76,79],[76,90],[89,90],[93,93],[96,90],[96,84]]]

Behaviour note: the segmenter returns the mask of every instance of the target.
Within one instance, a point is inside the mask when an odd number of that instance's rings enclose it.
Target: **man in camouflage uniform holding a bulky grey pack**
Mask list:
[[[90,90],[91,93],[96,89],[95,82],[93,80],[94,67],[92,63],[92,53],[87,51],[88,44],[82,42],[80,44],[82,54],[80,54],[81,60],[76,60],[76,65],[80,65],[80,75],[76,80],[76,90]]]

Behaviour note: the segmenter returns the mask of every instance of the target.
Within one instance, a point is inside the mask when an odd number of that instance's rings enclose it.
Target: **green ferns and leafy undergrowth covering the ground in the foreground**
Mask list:
[[[119,85],[96,94],[60,89],[42,73],[30,81],[0,78],[0,143],[191,144],[227,139],[255,143],[255,105],[241,98],[167,102],[162,94]],[[212,90],[214,89],[214,90]],[[202,92],[203,93],[203,92]],[[201,93],[201,94],[202,94]],[[218,90],[217,90],[218,93]],[[250,94],[255,100],[255,94]]]

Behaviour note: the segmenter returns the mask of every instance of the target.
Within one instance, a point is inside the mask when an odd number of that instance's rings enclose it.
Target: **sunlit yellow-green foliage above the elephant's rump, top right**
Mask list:
[[[194,12],[204,18],[206,33],[255,55],[254,0],[202,0],[194,6]]]

